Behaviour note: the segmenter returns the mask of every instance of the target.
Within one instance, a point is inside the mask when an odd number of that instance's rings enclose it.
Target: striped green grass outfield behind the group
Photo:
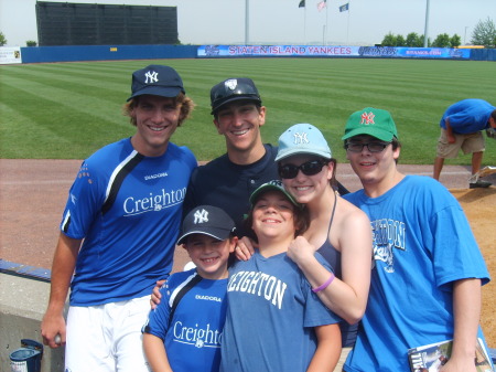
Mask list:
[[[225,151],[209,115],[209,89],[234,76],[251,77],[267,106],[263,140],[276,144],[296,123],[324,132],[333,155],[345,160],[341,136],[347,117],[367,106],[388,109],[398,126],[402,163],[432,163],[439,120],[464,98],[496,104],[493,62],[379,59],[236,59],[54,63],[0,66],[0,157],[83,159],[134,128],[121,107],[131,74],[168,64],[197,104],[173,141],[198,160]],[[488,139],[484,164],[496,166]],[[446,163],[470,164],[470,157]]]

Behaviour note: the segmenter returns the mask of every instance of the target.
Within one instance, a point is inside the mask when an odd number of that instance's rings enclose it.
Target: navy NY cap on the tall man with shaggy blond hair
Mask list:
[[[149,65],[132,73],[131,96],[128,100],[144,94],[173,98],[181,92],[186,93],[183,81],[174,68]]]

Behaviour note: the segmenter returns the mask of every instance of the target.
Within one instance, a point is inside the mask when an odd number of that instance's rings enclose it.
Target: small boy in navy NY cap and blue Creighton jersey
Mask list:
[[[171,275],[149,315],[143,346],[153,371],[218,371],[234,233],[233,220],[216,206],[201,205],[185,216],[177,244],[196,268]]]

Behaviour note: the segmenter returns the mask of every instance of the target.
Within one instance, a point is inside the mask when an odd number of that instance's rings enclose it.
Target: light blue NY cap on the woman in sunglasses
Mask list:
[[[316,155],[324,159],[333,157],[324,135],[311,124],[295,124],[279,137],[276,161],[298,153]]]

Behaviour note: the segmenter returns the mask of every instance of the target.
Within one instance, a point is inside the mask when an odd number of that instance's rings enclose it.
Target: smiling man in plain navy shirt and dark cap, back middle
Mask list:
[[[222,208],[236,223],[239,237],[249,211],[249,196],[261,184],[279,179],[274,161],[278,149],[263,144],[260,128],[266,107],[255,83],[234,77],[211,89],[212,115],[227,152],[193,171],[184,201],[184,214],[201,204]],[[348,191],[338,183],[341,194]]]

